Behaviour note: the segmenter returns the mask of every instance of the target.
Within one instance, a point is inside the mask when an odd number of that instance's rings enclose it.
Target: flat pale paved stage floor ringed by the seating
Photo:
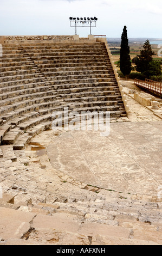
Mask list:
[[[57,136],[51,131],[47,154],[54,168],[77,181],[157,196],[162,190],[161,131],[162,121],[111,123],[108,137],[100,131],[62,131]]]

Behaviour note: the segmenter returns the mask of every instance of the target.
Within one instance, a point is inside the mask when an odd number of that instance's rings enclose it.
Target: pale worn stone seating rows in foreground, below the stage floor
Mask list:
[[[18,150],[16,163],[5,161],[2,184],[8,194],[0,199],[1,222],[6,223],[2,244],[161,245],[161,203],[153,196],[82,184],[53,169],[48,157],[33,152]]]

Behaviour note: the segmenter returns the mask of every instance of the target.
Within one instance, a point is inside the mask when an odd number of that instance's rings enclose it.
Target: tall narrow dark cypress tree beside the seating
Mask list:
[[[131,73],[131,57],[129,55],[130,48],[128,46],[127,27],[124,26],[121,35],[121,48],[120,48],[120,71],[123,75],[127,76]]]

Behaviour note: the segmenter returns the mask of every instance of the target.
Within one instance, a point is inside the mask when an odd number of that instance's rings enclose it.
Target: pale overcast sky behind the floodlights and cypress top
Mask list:
[[[162,38],[161,0],[0,0],[0,35],[73,35],[69,17],[98,17],[92,34]],[[87,36],[89,28],[78,28]]]

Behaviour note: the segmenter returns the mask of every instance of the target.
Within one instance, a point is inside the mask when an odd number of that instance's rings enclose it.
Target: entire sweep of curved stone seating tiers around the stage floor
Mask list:
[[[51,129],[53,112],[63,115],[64,107],[126,117],[104,43],[8,42],[0,59],[0,93],[0,172],[7,191],[0,225],[14,216],[16,234],[3,229],[0,245],[68,244],[72,237],[85,245],[160,244],[159,202],[74,181],[54,170],[47,156],[37,159],[28,151],[36,135]]]

